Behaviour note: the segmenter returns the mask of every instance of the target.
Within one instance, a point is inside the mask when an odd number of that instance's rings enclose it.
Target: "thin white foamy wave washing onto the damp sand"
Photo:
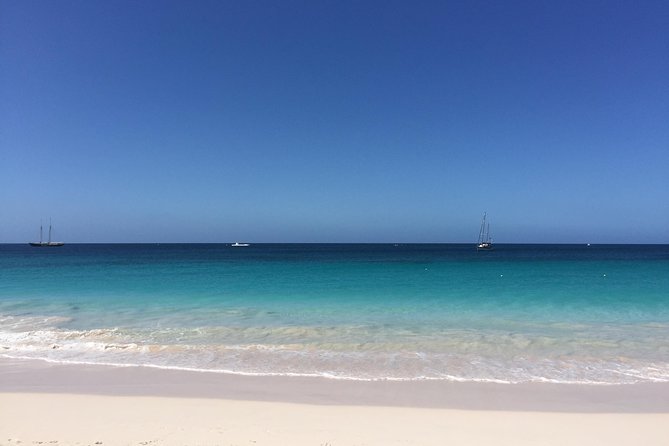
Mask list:
[[[159,346],[80,343],[3,347],[0,356],[65,364],[152,367],[244,376],[322,377],[353,381],[451,381],[518,384],[633,384],[669,382],[669,364],[585,360],[510,359],[363,354],[249,348],[249,346]]]

